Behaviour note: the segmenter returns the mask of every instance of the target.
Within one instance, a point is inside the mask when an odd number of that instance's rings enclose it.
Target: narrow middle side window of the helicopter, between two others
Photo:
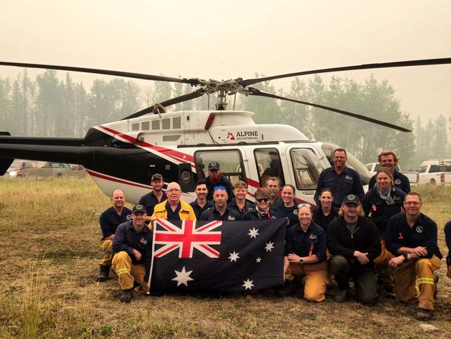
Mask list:
[[[271,176],[276,176],[280,179],[280,187],[282,187],[285,184],[285,179],[279,151],[275,148],[255,149],[254,156],[260,185],[265,187],[266,180]]]

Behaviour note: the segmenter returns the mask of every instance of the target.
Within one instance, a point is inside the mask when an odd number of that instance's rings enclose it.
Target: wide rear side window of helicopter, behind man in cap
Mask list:
[[[216,161],[221,166],[221,173],[228,177],[232,185],[238,181],[246,181],[241,152],[234,149],[221,151],[196,151],[194,162],[198,180],[208,175],[208,164]]]

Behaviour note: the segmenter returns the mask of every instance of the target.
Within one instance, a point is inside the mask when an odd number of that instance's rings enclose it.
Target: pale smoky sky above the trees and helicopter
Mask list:
[[[3,61],[221,80],[451,57],[446,0],[1,2]],[[0,76],[19,70],[0,67]],[[363,81],[371,73],[393,85],[411,117],[450,116],[451,65],[337,75]],[[71,76],[85,84],[101,77]],[[291,80],[273,85],[288,92]]]

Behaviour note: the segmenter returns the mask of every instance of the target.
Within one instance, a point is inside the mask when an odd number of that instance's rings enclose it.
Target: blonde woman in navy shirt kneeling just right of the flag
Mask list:
[[[325,299],[327,280],[326,236],[321,226],[312,222],[310,208],[309,204],[298,205],[299,224],[294,224],[287,232],[284,251],[286,281],[279,295],[287,295],[305,277],[305,299],[321,302]],[[290,279],[294,281],[290,283]]]

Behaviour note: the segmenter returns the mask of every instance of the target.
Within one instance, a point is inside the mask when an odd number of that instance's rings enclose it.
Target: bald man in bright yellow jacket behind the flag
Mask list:
[[[155,206],[151,220],[158,217],[167,220],[196,220],[193,208],[180,199],[182,190],[178,183],[169,183],[166,193],[167,200]]]

